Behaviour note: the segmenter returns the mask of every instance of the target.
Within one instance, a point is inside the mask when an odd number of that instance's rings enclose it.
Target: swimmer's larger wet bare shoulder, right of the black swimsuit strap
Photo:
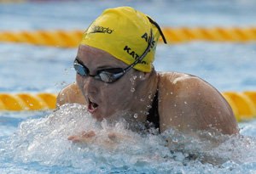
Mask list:
[[[224,134],[238,132],[230,105],[206,81],[195,76],[182,76],[164,83],[170,84],[166,85],[164,93],[160,93],[163,102],[160,104],[160,122],[164,124],[162,130],[177,128],[190,132],[218,129]]]

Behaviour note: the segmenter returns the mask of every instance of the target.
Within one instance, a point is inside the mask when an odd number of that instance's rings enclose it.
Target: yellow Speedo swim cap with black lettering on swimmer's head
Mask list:
[[[160,31],[152,21],[154,20],[148,15],[131,7],[109,8],[88,27],[80,44],[102,49],[131,65],[148,48],[152,29],[154,41],[151,43],[150,52],[133,67],[150,72],[160,37]]]

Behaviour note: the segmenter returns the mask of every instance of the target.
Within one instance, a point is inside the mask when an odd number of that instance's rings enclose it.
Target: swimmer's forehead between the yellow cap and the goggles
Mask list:
[[[84,65],[116,65],[123,68],[127,66],[110,53],[84,44],[79,45],[78,57]]]

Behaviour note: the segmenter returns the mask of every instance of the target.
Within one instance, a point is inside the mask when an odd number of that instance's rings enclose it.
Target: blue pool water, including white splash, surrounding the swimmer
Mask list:
[[[39,29],[84,30],[105,8],[129,5],[167,26],[247,26],[254,25],[256,3],[246,1],[75,1],[0,4],[0,30]],[[65,9],[65,10],[64,10]],[[210,82],[220,92],[241,92],[256,87],[255,42],[187,42],[159,45],[154,66],[160,71],[181,71]],[[58,93],[74,81],[75,48],[38,47],[20,43],[0,43],[0,93]],[[187,154],[166,149],[161,136],[147,135],[115,126],[98,125],[79,105],[52,111],[1,112],[1,173],[255,173],[254,120],[240,123],[241,138],[231,138],[221,147],[177,136],[198,154],[227,158],[223,165],[186,160]],[[79,123],[77,123],[79,122]],[[78,147],[68,135],[96,130],[106,137],[109,130],[131,137],[113,149],[101,144]],[[163,135],[166,136],[166,135]],[[145,145],[147,144],[147,145]],[[189,145],[190,144],[190,145]],[[191,145],[192,144],[192,145]]]

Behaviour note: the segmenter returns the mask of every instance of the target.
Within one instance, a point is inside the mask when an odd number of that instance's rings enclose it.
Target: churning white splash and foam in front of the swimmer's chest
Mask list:
[[[44,118],[21,122],[18,132],[0,143],[3,169],[21,166],[24,170],[24,164],[30,171],[42,173],[49,170],[231,173],[256,169],[255,138],[216,137],[207,132],[202,132],[201,138],[193,138],[174,130],[161,135],[131,132],[125,121],[98,123],[85,109],[79,104],[66,104]],[[71,135],[90,131],[96,133],[93,143],[67,140]],[[119,133],[122,138],[112,141],[109,132]],[[222,143],[217,145],[219,142]]]

